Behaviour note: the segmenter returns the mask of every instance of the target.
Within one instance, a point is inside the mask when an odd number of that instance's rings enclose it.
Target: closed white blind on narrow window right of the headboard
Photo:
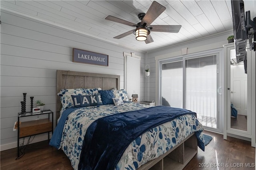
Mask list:
[[[125,60],[125,88],[128,99],[132,99],[132,94],[138,94],[140,101],[140,59],[126,56]]]

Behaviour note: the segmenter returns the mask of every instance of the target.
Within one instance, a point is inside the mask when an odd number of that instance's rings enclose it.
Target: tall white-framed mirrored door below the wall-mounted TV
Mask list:
[[[246,51],[245,59],[238,61],[234,45],[226,47],[224,139],[227,133],[228,136],[242,136],[245,137],[244,139],[251,140],[252,146],[255,147],[255,52],[249,49]]]

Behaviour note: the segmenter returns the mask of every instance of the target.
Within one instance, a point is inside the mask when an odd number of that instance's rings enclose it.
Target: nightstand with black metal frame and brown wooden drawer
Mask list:
[[[32,121],[22,121],[20,119],[28,116],[37,116],[48,114],[46,119],[38,119]],[[52,121],[50,120],[50,114],[52,114]],[[53,112],[51,110],[44,110],[40,113],[18,113],[18,157],[20,156],[20,138],[30,137],[33,135],[39,135],[42,133],[48,133],[48,140],[50,140],[50,132],[53,133]]]

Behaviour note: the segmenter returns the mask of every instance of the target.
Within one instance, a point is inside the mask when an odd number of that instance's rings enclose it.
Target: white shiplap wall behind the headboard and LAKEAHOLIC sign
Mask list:
[[[142,57],[140,96],[144,98],[145,53],[112,45],[11,12],[1,11],[1,21],[1,150],[17,147],[17,131],[12,129],[14,122],[17,121],[17,113],[21,109],[22,93],[27,93],[27,111],[30,110],[29,97],[34,96],[34,101],[42,100],[46,104],[46,109],[55,112],[56,70],[117,74],[120,75],[120,86],[124,88],[123,52],[136,53]],[[73,63],[72,48],[109,55],[109,66]],[[36,118],[28,117],[22,120]],[[46,139],[46,134],[37,135],[33,142]]]

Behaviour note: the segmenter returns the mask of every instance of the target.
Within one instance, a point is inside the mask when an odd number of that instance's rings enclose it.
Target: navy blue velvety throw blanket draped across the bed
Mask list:
[[[113,170],[124,150],[138,136],[186,114],[196,116],[186,109],[156,106],[97,119],[86,131],[78,169]]]

